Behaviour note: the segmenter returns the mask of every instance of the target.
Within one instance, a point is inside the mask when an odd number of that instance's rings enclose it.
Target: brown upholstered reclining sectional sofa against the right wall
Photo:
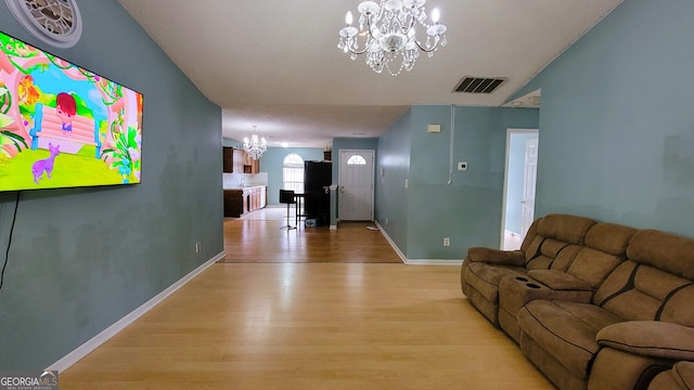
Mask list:
[[[548,214],[520,250],[470,248],[461,287],[560,389],[659,389],[694,361],[692,238]]]

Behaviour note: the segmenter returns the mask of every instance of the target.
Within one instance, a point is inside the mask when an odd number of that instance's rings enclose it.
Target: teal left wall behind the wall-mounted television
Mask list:
[[[34,39],[4,3],[0,29],[144,94],[142,183],[20,194],[0,290],[2,370],[55,363],[223,250],[220,108],[115,0],[77,3],[72,49]],[[15,198],[0,194],[1,258]]]

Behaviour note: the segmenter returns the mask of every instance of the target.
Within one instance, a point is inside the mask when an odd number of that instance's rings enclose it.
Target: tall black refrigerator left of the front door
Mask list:
[[[317,226],[330,225],[330,185],[333,165],[326,161],[304,162],[304,214]]]

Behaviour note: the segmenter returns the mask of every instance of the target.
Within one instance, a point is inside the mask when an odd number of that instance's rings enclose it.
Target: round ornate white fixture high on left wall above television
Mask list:
[[[56,48],[72,48],[82,34],[75,0],[4,0],[12,15],[34,37]]]

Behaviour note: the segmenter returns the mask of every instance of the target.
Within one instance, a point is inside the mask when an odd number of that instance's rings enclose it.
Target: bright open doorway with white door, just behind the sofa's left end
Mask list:
[[[537,129],[506,130],[501,218],[501,249],[515,250],[535,220],[535,190],[538,167]]]

